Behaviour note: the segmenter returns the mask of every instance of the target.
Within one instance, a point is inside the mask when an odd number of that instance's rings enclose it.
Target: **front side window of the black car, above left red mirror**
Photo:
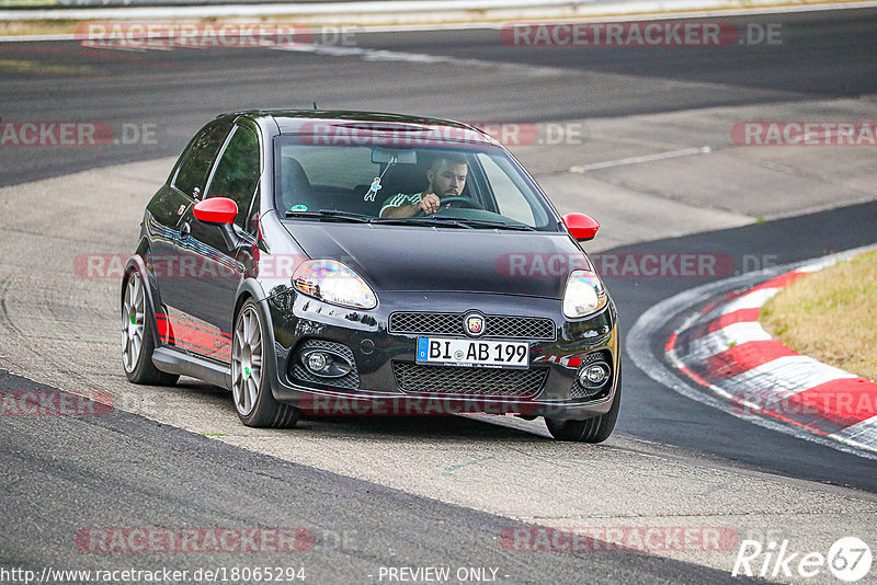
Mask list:
[[[259,138],[249,128],[237,126],[226,145],[207,187],[207,197],[228,197],[238,204],[235,218],[248,229],[247,218],[259,185]]]

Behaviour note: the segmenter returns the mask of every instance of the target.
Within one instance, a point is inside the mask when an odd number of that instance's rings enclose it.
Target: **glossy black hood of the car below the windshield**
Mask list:
[[[559,299],[590,261],[566,233],[284,221],[305,253],[337,260],[375,290],[491,292]]]

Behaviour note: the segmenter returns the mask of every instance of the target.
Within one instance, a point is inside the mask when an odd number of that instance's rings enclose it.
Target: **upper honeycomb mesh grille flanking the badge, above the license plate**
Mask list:
[[[415,335],[466,335],[463,318],[468,313],[392,313],[390,333]],[[555,339],[555,323],[540,317],[485,316],[485,337],[506,340]]]

